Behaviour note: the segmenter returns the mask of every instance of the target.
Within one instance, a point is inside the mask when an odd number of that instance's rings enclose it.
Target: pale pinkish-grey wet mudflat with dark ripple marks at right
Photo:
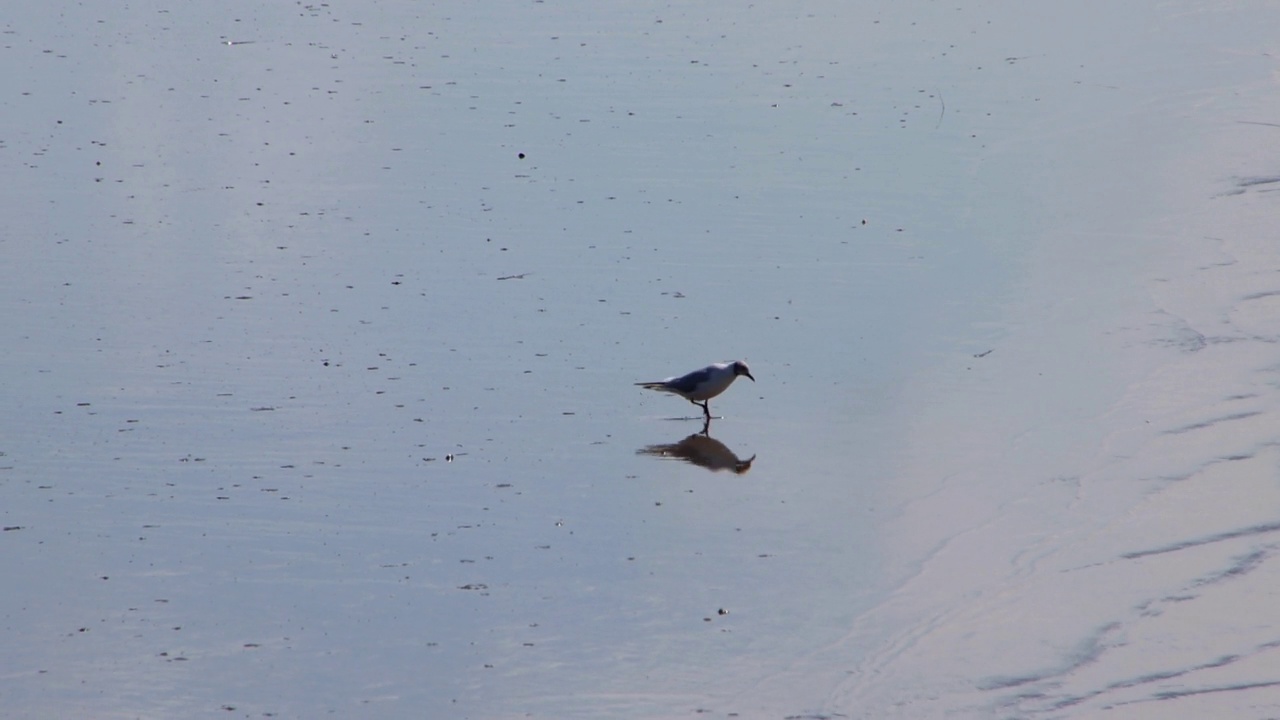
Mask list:
[[[1274,96],[1270,81],[1219,95],[1261,105],[1267,87]],[[858,717],[1280,707],[1280,633],[1268,630],[1280,252],[1267,237],[1280,182],[1262,155],[1274,168],[1280,158],[1258,149],[1265,126],[1238,117],[1258,113],[1280,117],[1258,106],[1198,118],[1212,135],[1179,158],[1194,170],[1151,173],[1176,183],[1146,188],[1161,211],[1101,240],[1059,231],[1029,264],[1005,342],[923,378],[922,398],[951,395],[913,404],[923,413],[901,479],[916,496],[888,543],[901,564],[923,561],[841,641],[895,628],[829,707]],[[1112,245],[1091,255],[1082,242]],[[1117,272],[1108,255],[1128,256],[1132,286],[1129,265]]]

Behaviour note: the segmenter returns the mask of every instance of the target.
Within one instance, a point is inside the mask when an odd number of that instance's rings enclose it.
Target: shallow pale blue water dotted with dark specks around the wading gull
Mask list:
[[[851,634],[924,557],[884,546],[942,480],[900,477],[920,378],[1111,218],[1073,142],[1142,135],[1091,129],[1115,37],[1015,9],[12,18],[8,712],[856,714],[824,652],[900,629]],[[639,452],[699,423],[632,383],[732,359],[750,471]]]

